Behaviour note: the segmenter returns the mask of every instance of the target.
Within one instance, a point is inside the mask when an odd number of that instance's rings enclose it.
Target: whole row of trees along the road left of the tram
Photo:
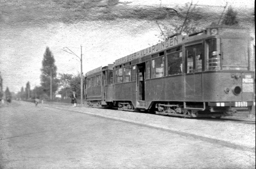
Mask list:
[[[21,87],[17,97],[22,100],[30,98],[52,99],[55,94],[59,94],[62,98],[67,98],[70,97],[73,91],[80,97],[80,74],[73,75],[61,73],[57,78],[57,66],[55,66],[55,59],[49,47],[46,48],[44,53],[40,78],[41,86],[35,86],[35,88],[31,90],[28,81],[25,89]]]

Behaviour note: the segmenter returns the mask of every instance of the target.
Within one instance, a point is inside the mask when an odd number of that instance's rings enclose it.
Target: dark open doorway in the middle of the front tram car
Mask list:
[[[138,64],[137,67],[138,101],[145,101],[145,63]]]

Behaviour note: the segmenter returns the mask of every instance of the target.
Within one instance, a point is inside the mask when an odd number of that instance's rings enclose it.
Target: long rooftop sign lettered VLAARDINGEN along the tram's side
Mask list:
[[[161,43],[157,43],[154,46],[150,46],[146,49],[143,49],[139,52],[135,52],[133,54],[130,54],[128,56],[122,57],[120,59],[117,59],[114,63],[114,66],[125,63],[125,62],[129,62],[131,60],[146,56],[148,54],[154,54],[157,52],[160,52],[161,50],[167,49],[169,47],[175,46],[179,43],[182,42],[182,35],[178,35],[172,38],[169,38],[168,40],[161,42]]]

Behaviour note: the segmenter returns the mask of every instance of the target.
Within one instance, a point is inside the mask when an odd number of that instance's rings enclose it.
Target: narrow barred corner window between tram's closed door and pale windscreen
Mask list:
[[[220,54],[217,48],[217,39],[206,40],[208,54],[208,70],[220,70]]]

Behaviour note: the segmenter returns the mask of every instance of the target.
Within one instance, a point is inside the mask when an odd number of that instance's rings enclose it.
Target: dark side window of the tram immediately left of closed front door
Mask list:
[[[182,73],[182,48],[181,46],[166,51],[168,75]]]

